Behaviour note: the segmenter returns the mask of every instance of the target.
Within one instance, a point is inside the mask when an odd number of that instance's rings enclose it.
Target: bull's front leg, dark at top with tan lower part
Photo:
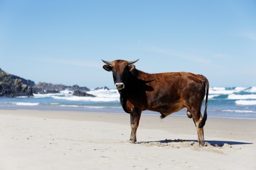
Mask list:
[[[130,115],[131,117],[131,137],[130,137],[130,142],[131,143],[135,143],[137,141],[136,139],[136,132],[139,126],[139,122],[140,122],[140,115],[141,115],[142,110],[139,108],[134,108],[133,107],[133,111]]]

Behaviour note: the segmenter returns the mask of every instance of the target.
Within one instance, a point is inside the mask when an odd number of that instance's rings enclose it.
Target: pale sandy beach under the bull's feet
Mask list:
[[[0,110],[0,169],[256,169],[256,120]],[[178,140],[180,139],[180,140]]]

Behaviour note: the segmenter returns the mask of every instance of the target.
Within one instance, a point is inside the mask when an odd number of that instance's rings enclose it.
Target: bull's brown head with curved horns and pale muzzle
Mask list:
[[[139,60],[139,59],[138,59]],[[138,60],[127,62],[124,60],[115,60],[113,62],[107,62],[102,60],[107,65],[103,65],[103,69],[113,72],[113,78],[115,83],[115,88],[121,90],[125,87],[126,80],[128,78],[129,72],[135,69],[133,63]]]

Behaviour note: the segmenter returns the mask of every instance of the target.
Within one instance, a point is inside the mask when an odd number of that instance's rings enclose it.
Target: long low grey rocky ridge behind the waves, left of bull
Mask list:
[[[45,82],[43,82],[43,83],[39,82],[33,88],[38,88],[38,89],[42,89],[42,90],[58,90],[58,91],[62,91],[62,90],[90,91],[90,89],[88,89],[87,87],[79,87],[77,85],[65,86],[63,84],[52,84],[52,83],[45,83]]]

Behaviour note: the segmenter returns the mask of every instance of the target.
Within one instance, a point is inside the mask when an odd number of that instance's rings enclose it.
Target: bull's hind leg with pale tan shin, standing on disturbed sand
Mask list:
[[[192,115],[193,121],[196,125],[198,143],[199,143],[199,145],[203,146],[203,144],[204,144],[204,128],[199,128],[199,123],[203,119],[203,116],[200,111],[193,112],[193,109],[192,109],[191,115]]]

